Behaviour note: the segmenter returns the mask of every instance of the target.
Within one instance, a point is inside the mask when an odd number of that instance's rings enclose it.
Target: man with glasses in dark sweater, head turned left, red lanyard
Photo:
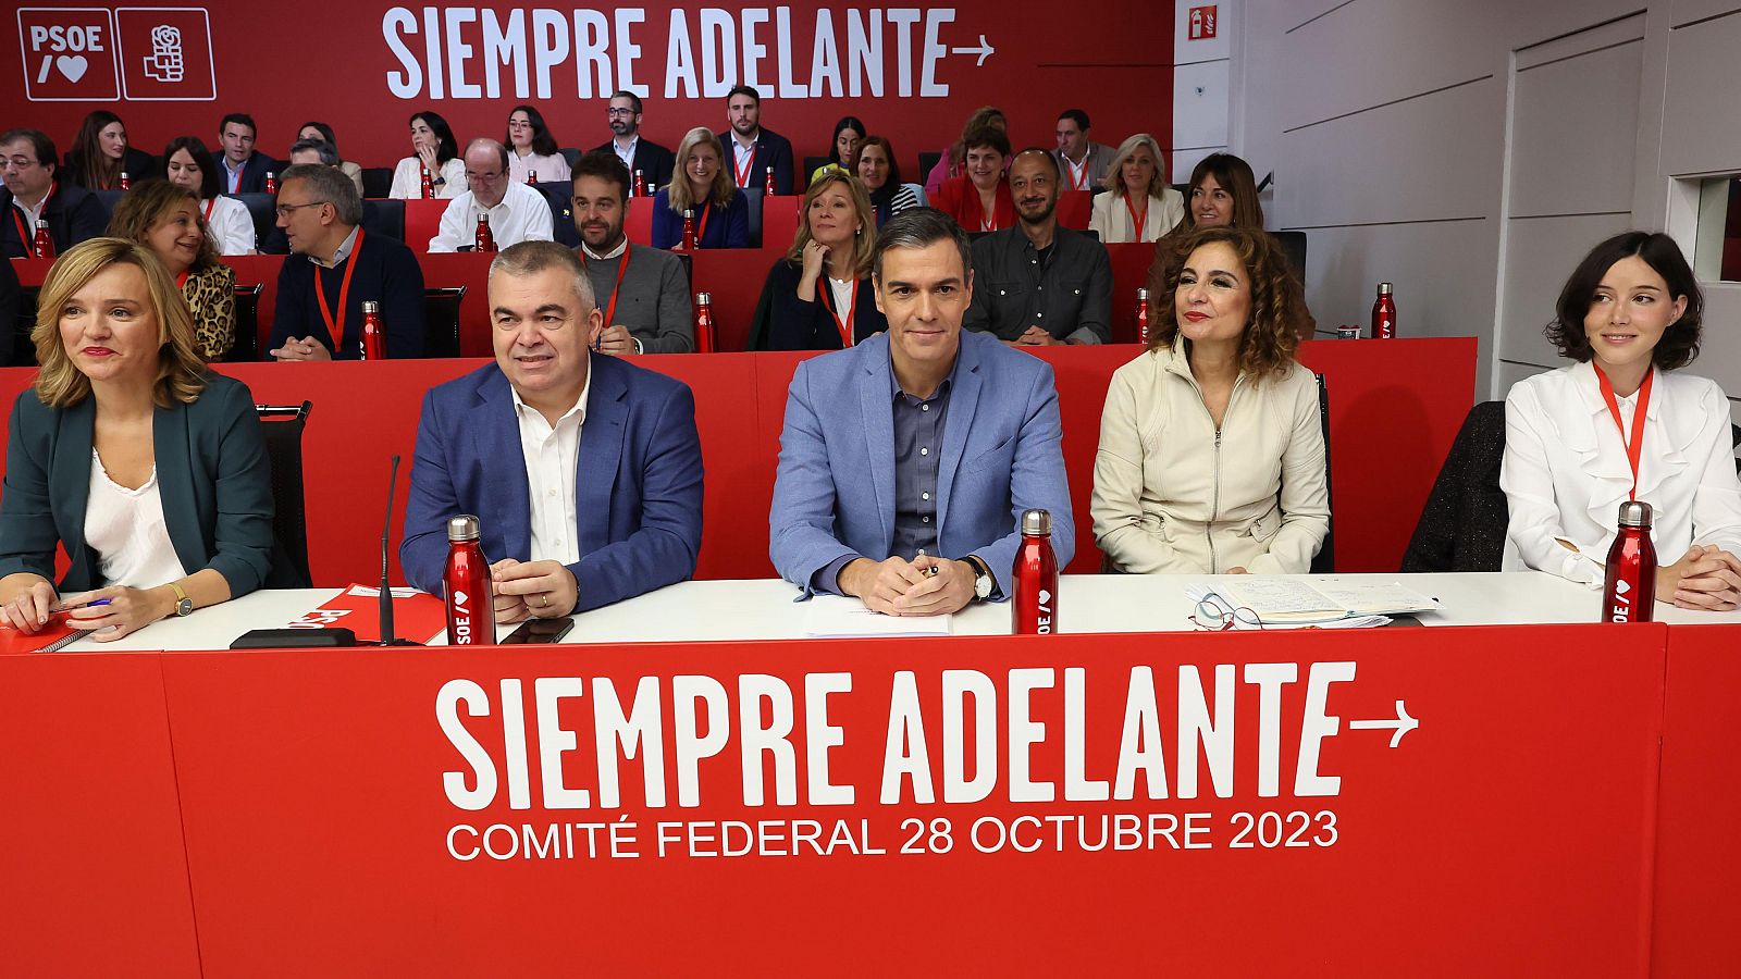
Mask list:
[[[362,230],[362,199],[345,171],[294,165],[279,183],[279,270],[270,354],[279,361],[362,357],[362,303],[381,305],[388,357],[423,355],[423,268],[399,239]],[[303,256],[306,261],[303,261]]]

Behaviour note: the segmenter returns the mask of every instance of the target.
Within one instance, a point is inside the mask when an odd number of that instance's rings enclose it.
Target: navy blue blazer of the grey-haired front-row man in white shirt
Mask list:
[[[576,611],[695,575],[702,549],[702,439],[682,381],[618,357],[590,355],[575,517]],[[423,397],[399,564],[442,594],[447,517],[477,514],[484,557],[531,559],[531,493],[514,388],[496,364]]]

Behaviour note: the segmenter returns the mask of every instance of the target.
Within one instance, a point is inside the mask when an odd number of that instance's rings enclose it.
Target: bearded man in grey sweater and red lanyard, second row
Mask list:
[[[623,233],[629,167],[615,153],[575,160],[575,230],[592,294],[604,307],[601,354],[688,354],[695,350],[689,275],[669,251],[637,246]]]

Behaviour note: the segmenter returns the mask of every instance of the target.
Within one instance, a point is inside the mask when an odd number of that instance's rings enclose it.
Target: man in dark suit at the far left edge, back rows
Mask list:
[[[9,129],[0,132],[0,254],[28,258],[37,254],[37,221],[49,223],[54,253],[94,239],[108,226],[108,211],[89,190],[56,179],[54,139],[40,129]],[[7,321],[10,331],[10,321]]]

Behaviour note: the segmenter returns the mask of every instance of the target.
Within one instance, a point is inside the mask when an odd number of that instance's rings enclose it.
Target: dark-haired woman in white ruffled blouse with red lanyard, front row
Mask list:
[[[1729,399],[1678,373],[1699,354],[1704,298],[1675,239],[1598,244],[1560,291],[1548,340],[1569,368],[1511,385],[1499,486],[1511,521],[1502,570],[1600,587],[1626,500],[1650,503],[1656,598],[1741,601],[1741,479]]]

